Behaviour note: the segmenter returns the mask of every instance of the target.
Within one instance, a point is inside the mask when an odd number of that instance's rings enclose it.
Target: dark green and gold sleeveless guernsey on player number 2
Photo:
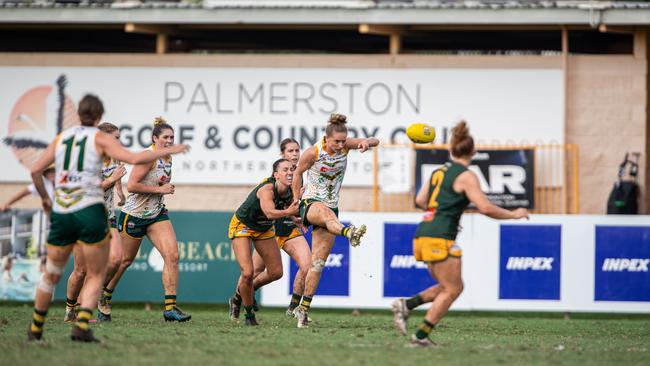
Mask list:
[[[466,170],[462,164],[448,162],[431,173],[427,203],[429,215],[418,226],[416,238],[425,236],[456,240],[460,217],[469,200],[465,194],[454,192],[454,181]]]

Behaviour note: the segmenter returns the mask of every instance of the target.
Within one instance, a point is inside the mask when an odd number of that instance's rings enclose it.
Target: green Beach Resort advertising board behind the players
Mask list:
[[[228,224],[232,212],[170,212],[178,240],[178,301],[227,303],[239,277]],[[113,294],[113,301],[162,302],[163,259],[148,239]],[[65,300],[66,282],[72,271],[69,261],[56,288],[55,299]]]

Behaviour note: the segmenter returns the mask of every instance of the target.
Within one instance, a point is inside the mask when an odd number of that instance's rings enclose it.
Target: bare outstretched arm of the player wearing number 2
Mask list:
[[[454,190],[464,192],[467,199],[476,205],[480,213],[497,220],[528,218],[528,210],[518,208],[514,211],[503,209],[490,202],[481,190],[478,178],[471,171],[466,171],[456,178]]]

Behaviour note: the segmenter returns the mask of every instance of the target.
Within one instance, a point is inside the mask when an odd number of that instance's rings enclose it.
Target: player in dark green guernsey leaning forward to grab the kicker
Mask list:
[[[273,163],[273,176],[264,179],[251,191],[230,221],[228,237],[232,240],[235,258],[241,271],[235,297],[241,297],[246,312],[246,325],[257,325],[253,312],[255,284],[260,287],[282,277],[282,259],[275,239],[273,221],[298,214],[298,203],[293,202],[291,197],[293,170],[293,164],[287,159],[279,159]],[[285,209],[277,209],[278,201],[287,202],[288,205]],[[257,277],[253,276],[251,240],[255,251],[266,264],[266,271]],[[239,317],[239,309],[235,309],[232,299],[230,317]]]

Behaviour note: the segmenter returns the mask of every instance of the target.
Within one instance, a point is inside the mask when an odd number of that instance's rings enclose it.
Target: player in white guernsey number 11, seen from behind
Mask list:
[[[98,341],[88,327],[88,320],[97,306],[109,255],[110,232],[101,187],[102,159],[108,156],[130,164],[149,163],[188,149],[185,145],[177,145],[154,152],[131,153],[113,136],[95,127],[104,114],[104,106],[94,95],[82,98],[78,113],[81,126],[61,132],[32,167],[32,180],[41,196],[43,209],[51,213],[47,262],[36,289],[32,323],[27,331],[29,340],[42,338],[54,288],[61,279],[72,248],[80,246],[86,279],[71,338],[81,342]],[[54,202],[47,196],[41,179],[43,171],[52,163],[55,165]]]

